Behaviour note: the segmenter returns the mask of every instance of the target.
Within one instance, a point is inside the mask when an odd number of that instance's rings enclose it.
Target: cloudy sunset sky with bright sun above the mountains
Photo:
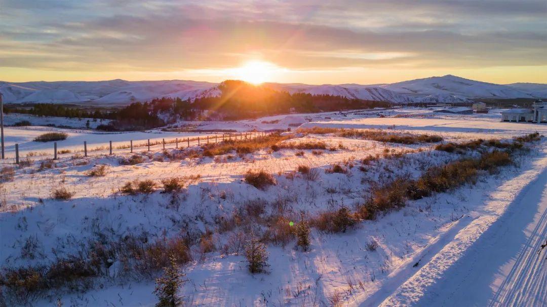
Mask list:
[[[257,74],[547,83],[547,1],[0,0],[0,80]]]

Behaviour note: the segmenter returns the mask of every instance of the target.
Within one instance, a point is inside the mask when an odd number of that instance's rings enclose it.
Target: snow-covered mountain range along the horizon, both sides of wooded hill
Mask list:
[[[339,95],[364,100],[412,102],[467,102],[474,98],[545,98],[547,84],[514,83],[493,84],[456,76],[430,77],[392,84],[323,84],[266,83],[265,86],[290,93]],[[5,102],[95,103],[101,105],[149,101],[156,97],[218,96],[218,83],[189,80],[96,82],[0,82]]]

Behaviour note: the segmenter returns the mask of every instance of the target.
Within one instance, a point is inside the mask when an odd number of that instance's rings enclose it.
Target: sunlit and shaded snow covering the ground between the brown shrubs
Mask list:
[[[438,134],[446,141],[476,138],[510,140],[530,132],[547,135],[547,125],[499,122],[499,113],[446,115],[431,109],[403,108],[348,114],[294,114],[232,123],[205,123],[202,130],[238,131],[287,129],[304,120],[304,127],[377,128],[390,132]],[[382,117],[379,115],[382,114]],[[184,124],[184,123],[183,123]],[[211,128],[207,125],[216,125]],[[276,128],[272,128],[276,125]],[[206,128],[203,128],[206,127]],[[230,127],[230,128],[227,128]],[[34,134],[45,128],[7,129],[8,146],[42,150]],[[50,129],[50,128],[48,128]],[[178,132],[91,134],[68,132],[63,146],[87,140],[96,144],[187,137]],[[154,137],[150,137],[154,136]],[[9,137],[12,137],[11,139]],[[73,142],[73,143],[70,143]],[[394,144],[333,135],[295,134],[283,141],[325,142],[336,150],[296,155],[300,150],[263,149],[226,159],[176,159],[160,148],[144,155],[142,163],[121,165],[129,153],[73,159],[63,157],[51,168],[34,163],[15,171],[13,181],[0,186],[0,267],[50,263],[77,253],[88,241],[121,240],[146,234],[149,240],[213,230],[213,251],[191,245],[192,259],[182,270],[188,281],[180,289],[189,305],[206,306],[437,306],[547,304],[547,273],[539,245],[547,239],[547,141],[531,145],[516,156],[516,164],[494,174],[481,175],[475,185],[456,188],[416,201],[401,210],[361,221],[345,233],[312,228],[307,252],[270,242],[267,274],[250,274],[242,241],[248,231],[264,225],[240,225],[217,231],[219,221],[239,208],[259,204],[269,214],[281,210],[291,220],[362,204],[374,183],[408,175],[416,178],[430,166],[461,159],[461,154],[434,150],[435,144]],[[188,149],[198,149],[192,144]],[[36,146],[36,147],[32,147]],[[9,151],[8,147],[8,151]],[[172,148],[172,147],[171,147]],[[141,150],[139,150],[141,151]],[[177,150],[168,149],[168,153]],[[395,153],[401,153],[396,155]],[[369,165],[360,160],[380,159]],[[171,158],[170,158],[171,157]],[[222,157],[221,157],[222,158]],[[347,173],[330,173],[340,164]],[[106,165],[104,177],[86,176],[94,165]],[[315,180],[295,172],[299,165],[319,170]],[[5,164],[4,164],[5,166]],[[264,170],[277,184],[259,190],[242,181],[248,170]],[[200,175],[200,176],[195,176]],[[177,194],[122,195],[127,181],[187,176]],[[54,189],[73,193],[66,201],[51,199]],[[266,214],[265,213],[265,214]],[[199,235],[198,235],[199,237]],[[372,241],[378,243],[370,250]],[[33,298],[36,306],[55,304],[59,298],[74,306],[153,306],[151,277],[122,274],[121,259],[112,259],[108,274],[84,292],[67,289]],[[1,300],[0,300],[1,302]],[[15,302],[10,301],[9,304]],[[21,302],[19,302],[21,303]]]

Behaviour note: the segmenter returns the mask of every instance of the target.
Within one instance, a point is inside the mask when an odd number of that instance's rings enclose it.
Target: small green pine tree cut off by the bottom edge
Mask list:
[[[179,272],[179,267],[174,256],[171,256],[170,260],[171,266],[164,268],[164,276],[156,279],[154,293],[159,298],[156,307],[176,307],[182,305],[182,299],[177,295],[177,291],[184,283],[182,277],[185,274]]]

